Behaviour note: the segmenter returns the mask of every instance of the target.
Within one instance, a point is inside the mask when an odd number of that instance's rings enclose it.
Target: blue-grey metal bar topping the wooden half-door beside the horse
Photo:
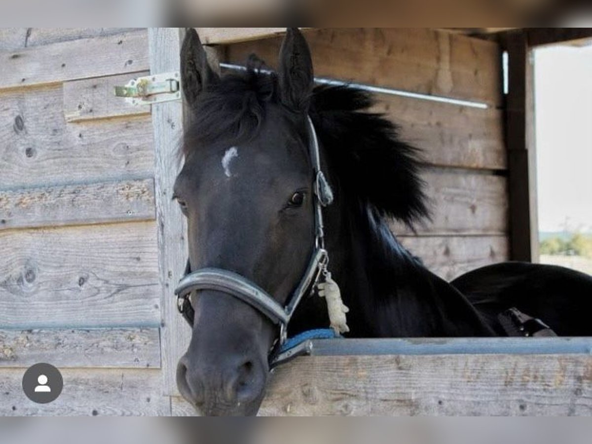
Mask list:
[[[592,337],[314,339],[313,356],[592,354]]]

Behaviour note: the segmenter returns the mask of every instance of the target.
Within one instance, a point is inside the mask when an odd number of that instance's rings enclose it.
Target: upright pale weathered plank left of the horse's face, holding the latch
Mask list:
[[[152,72],[180,70],[181,48],[178,28],[150,28],[150,69]],[[162,307],[163,392],[178,394],[176,367],[189,345],[191,329],[179,316],[173,289],[182,277],[187,260],[185,221],[172,197],[176,175],[181,169],[176,143],[183,134],[183,104],[167,102],[152,105],[155,146],[156,220],[160,304]]]

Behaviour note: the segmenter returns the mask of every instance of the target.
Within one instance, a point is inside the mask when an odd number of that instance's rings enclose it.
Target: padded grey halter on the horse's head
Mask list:
[[[255,282],[222,268],[201,268],[191,271],[189,260],[185,269],[185,276],[179,281],[175,289],[177,308],[190,326],[194,322],[194,309],[189,301],[189,295],[197,290],[215,290],[229,294],[255,310],[265,315],[274,324],[279,324],[278,349],[287,340],[288,323],[307,291],[313,291],[321,273],[326,272],[329,255],[324,247],[323,207],[333,202],[333,192],[323,171],[321,170],[320,151],[318,149],[317,133],[313,121],[307,116],[308,136],[310,140],[309,154],[314,173],[314,250],[308,262],[308,267],[300,280],[300,284],[288,298],[286,305],[279,304],[272,295],[260,288]]]

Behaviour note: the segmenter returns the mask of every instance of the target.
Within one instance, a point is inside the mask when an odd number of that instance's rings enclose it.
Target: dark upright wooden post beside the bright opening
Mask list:
[[[538,259],[536,157],[533,133],[532,63],[526,34],[505,35],[509,90],[506,97],[506,146],[510,193],[510,259]]]

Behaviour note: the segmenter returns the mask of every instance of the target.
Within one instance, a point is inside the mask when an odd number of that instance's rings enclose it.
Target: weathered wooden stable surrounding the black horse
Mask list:
[[[272,67],[281,31],[199,29],[221,62],[241,65],[255,52]],[[376,110],[424,149],[433,221],[416,233],[393,224],[404,246],[445,279],[530,260],[528,53],[590,31],[304,32],[319,78],[382,88]],[[172,295],[186,260],[170,198],[182,103],[133,107],[113,96],[131,78],[178,70],[181,34],[0,30],[0,415],[192,413],[174,378],[189,337]],[[343,341],[333,351],[319,342],[320,354],[277,369],[262,413],[592,412],[592,340],[574,348],[551,339],[530,352],[468,341]],[[62,370],[65,388],[39,406],[21,378],[44,361]]]

